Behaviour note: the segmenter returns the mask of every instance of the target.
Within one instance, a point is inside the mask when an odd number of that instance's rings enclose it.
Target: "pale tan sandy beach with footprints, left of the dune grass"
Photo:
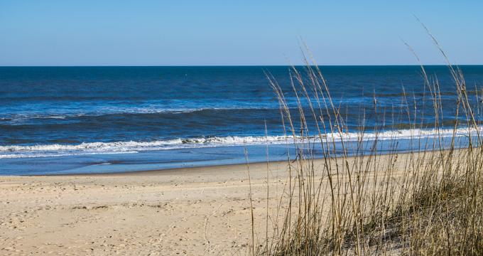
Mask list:
[[[269,165],[273,197],[283,191],[286,166]],[[250,171],[263,239],[266,164],[250,164]],[[245,255],[251,234],[247,174],[246,165],[232,165],[1,176],[0,254]]]

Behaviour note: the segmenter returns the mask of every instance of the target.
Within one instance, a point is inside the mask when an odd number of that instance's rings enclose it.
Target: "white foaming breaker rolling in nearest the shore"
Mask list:
[[[342,134],[329,133],[323,134],[322,139],[328,139],[330,142],[340,142],[344,139],[349,141],[371,141],[371,140],[401,140],[401,139],[431,139],[435,137],[474,137],[477,132],[482,133],[483,127],[478,129],[459,128],[453,129],[399,129],[385,132],[347,132]],[[297,137],[297,142],[320,142],[318,136],[301,138]],[[129,154],[141,151],[158,151],[167,149],[190,149],[202,147],[216,146],[249,146],[263,144],[293,144],[294,139],[291,136],[227,136],[227,137],[198,137],[185,139],[166,139],[151,142],[89,142],[81,144],[36,144],[31,146],[0,146],[0,159],[16,159],[16,158],[32,158],[32,157],[48,157],[48,156],[70,156],[82,154]]]

